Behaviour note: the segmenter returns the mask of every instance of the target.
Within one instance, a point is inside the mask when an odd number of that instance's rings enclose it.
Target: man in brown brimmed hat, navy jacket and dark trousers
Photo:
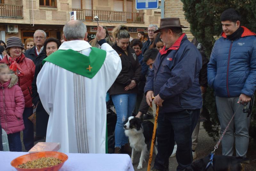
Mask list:
[[[164,18],[154,32],[161,33],[165,46],[156,57],[144,89],[148,104],[155,96],[154,103],[160,106],[156,133],[158,153],[152,170],[168,170],[174,142],[177,170],[183,170],[193,161],[191,135],[202,107],[198,79],[202,57],[181,28],[187,27],[180,25],[179,18]]]

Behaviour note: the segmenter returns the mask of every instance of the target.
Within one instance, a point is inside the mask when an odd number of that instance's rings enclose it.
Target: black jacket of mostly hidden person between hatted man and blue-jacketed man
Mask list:
[[[207,64],[209,60],[205,55],[205,48],[204,46],[202,46],[201,43],[196,40],[196,38],[194,38],[191,42],[196,46],[196,48],[202,55],[202,69],[199,73],[199,84],[200,86],[207,87]]]

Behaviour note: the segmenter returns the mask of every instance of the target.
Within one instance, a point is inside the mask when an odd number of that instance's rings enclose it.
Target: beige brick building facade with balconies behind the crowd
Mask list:
[[[87,26],[88,34],[95,36],[97,22],[111,30],[120,24],[129,27],[133,38],[138,31],[147,32],[149,24],[159,26],[161,13],[157,10],[136,10],[135,0],[0,0],[0,40],[11,36],[22,42],[42,29],[47,37],[62,38],[63,26],[70,20],[70,11]],[[159,2],[160,4],[160,2]],[[104,21],[102,21],[104,20]]]

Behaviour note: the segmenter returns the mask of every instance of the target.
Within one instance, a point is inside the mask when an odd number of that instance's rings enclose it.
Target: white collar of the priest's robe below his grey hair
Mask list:
[[[82,51],[84,49],[91,48],[92,46],[84,40],[71,40],[65,41],[60,45],[60,50],[72,49],[74,51]]]

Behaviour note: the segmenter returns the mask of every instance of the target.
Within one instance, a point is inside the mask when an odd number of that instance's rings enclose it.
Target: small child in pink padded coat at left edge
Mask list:
[[[7,133],[11,152],[21,152],[20,131],[25,129],[22,113],[25,100],[18,77],[11,74],[6,64],[0,64],[0,121]]]

